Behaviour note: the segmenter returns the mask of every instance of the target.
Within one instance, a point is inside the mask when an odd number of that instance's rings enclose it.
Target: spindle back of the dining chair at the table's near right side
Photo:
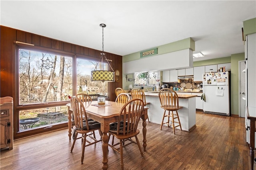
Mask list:
[[[142,111],[144,111],[144,102],[141,99],[135,98],[126,102],[119,113],[116,134],[130,136],[136,133]],[[124,122],[126,125],[120,128],[120,125],[124,124]]]

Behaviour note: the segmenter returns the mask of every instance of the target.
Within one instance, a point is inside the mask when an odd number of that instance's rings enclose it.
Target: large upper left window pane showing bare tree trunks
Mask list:
[[[19,49],[19,103],[68,100],[72,57]]]

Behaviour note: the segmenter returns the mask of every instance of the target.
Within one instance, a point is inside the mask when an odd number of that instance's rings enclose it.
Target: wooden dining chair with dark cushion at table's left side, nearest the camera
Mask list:
[[[82,148],[81,164],[83,164],[85,147],[102,141],[102,139],[97,140],[96,138],[94,138],[90,135],[86,135],[87,133],[91,133],[92,131],[95,131],[95,130],[100,131],[100,123],[97,121],[94,121],[94,120],[88,121],[84,105],[78,97],[72,96],[72,98],[70,99],[70,104],[71,104],[71,107],[73,110],[74,123],[75,123],[75,125],[73,127],[74,141],[73,141],[70,152],[72,152],[72,150],[74,149],[76,140],[82,139],[83,148]],[[78,134],[81,134],[81,136],[78,137]],[[87,136],[90,137],[92,140],[90,140],[90,141],[86,140]],[[86,142],[88,143],[87,145],[86,145]]]

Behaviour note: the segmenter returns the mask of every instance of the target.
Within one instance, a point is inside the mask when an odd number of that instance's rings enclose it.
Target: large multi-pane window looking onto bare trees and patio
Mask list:
[[[81,56],[75,59],[55,52],[19,48],[18,131],[37,128],[44,131],[66,123],[65,105],[74,93],[86,93],[95,100],[98,96],[108,97],[107,82],[91,82],[91,71],[97,63]],[[104,68],[108,68],[108,64],[104,63]]]

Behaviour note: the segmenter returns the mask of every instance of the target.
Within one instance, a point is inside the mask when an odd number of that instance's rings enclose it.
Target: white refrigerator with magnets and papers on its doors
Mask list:
[[[203,74],[203,111],[218,115],[230,115],[229,72]]]

